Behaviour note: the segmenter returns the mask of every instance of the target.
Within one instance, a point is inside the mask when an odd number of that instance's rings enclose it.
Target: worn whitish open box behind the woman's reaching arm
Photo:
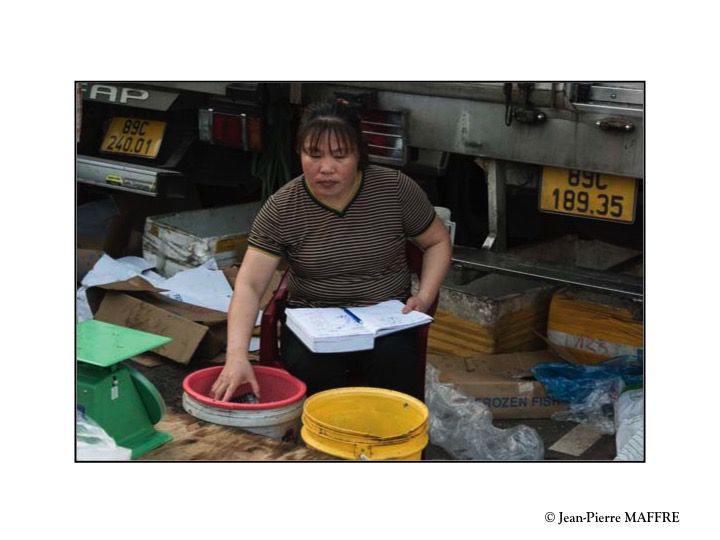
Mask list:
[[[145,221],[143,258],[170,277],[214,258],[220,268],[242,261],[260,203],[175,212]]]

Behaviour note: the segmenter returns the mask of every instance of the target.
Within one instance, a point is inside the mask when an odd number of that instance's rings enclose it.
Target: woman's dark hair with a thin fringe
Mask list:
[[[305,108],[297,134],[298,154],[316,148],[325,136],[337,137],[340,144],[360,156],[359,167],[368,163],[358,107],[345,101],[321,101]]]

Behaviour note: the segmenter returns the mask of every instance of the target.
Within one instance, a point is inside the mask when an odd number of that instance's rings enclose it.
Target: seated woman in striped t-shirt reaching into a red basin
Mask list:
[[[354,108],[340,102],[309,106],[297,140],[303,174],[268,199],[250,231],[228,313],[227,360],[210,392],[215,399],[230,399],[244,383],[260,396],[248,343],[260,298],[281,258],[290,267],[290,307],[399,299],[405,313],[430,308],[450,266],[450,238],[422,189],[398,171],[368,165]],[[425,252],[414,296],[408,238]],[[368,386],[412,393],[415,332],[378,338],[371,351],[318,354],[284,329],[281,351],[288,371],[308,385],[308,395],[347,386],[353,364]]]

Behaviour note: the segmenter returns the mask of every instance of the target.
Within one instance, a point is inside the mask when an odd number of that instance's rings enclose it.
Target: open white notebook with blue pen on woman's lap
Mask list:
[[[372,349],[375,338],[432,322],[419,311],[403,314],[405,304],[388,300],[350,308],[289,308],[285,325],[313,352]]]

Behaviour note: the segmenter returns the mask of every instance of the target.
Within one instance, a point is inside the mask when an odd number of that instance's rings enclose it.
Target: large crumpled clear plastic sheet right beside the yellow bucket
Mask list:
[[[492,425],[487,406],[466,396],[452,384],[438,380],[427,366],[426,404],[430,410],[430,440],[455,459],[543,459],[545,449],[537,432],[524,425],[499,429]]]

